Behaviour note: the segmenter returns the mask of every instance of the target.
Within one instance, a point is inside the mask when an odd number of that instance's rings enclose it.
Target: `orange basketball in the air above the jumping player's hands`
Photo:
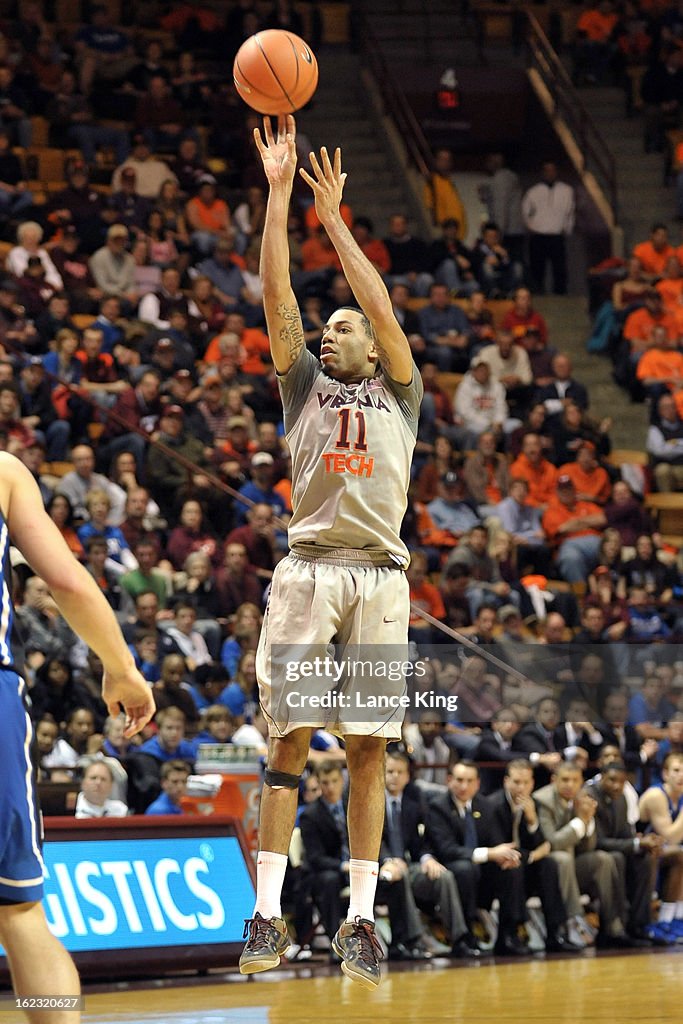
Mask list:
[[[259,114],[293,114],[315,92],[317,60],[293,32],[267,29],[242,44],[232,78],[244,101]]]

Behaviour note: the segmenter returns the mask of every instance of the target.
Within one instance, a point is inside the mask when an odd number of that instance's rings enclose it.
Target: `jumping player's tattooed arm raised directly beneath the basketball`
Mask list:
[[[296,124],[292,115],[278,118],[273,138],[270,119],[263,118],[263,137],[254,129],[254,141],[268,179],[268,205],[261,242],[259,268],[270,354],[279,374],[286,374],[304,346],[303,324],[290,280],[287,237],[292,186],[296,171]]]

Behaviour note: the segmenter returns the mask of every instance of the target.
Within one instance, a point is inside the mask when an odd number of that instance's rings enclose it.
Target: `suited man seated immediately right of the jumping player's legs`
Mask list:
[[[468,933],[456,881],[434,856],[425,831],[426,821],[425,797],[411,782],[409,757],[398,751],[387,754],[380,880],[388,874],[396,879],[408,876],[417,906],[441,922],[454,956],[477,957],[480,951]]]

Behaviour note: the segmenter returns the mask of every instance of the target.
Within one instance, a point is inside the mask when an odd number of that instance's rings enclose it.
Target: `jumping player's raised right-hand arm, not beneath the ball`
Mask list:
[[[413,378],[413,355],[408,338],[394,316],[384,282],[364,254],[339,212],[346,174],[341,169],[341,150],[335,150],[334,166],[325,146],[319,162],[314,153],[310,164],[315,177],[303,168],[299,174],[315,197],[315,212],[330,236],[341,260],[342,269],[364,313],[373,325],[375,347],[382,368],[399,384]]]

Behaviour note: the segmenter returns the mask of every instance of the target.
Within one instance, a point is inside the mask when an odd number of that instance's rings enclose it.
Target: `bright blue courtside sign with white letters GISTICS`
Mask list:
[[[157,818],[155,828],[139,818],[110,819],[103,831],[63,819],[53,830],[55,819],[46,819],[43,906],[50,931],[77,959],[120,951],[115,962],[137,959],[140,968],[143,950],[155,961],[167,950],[178,966],[191,966],[185,953],[191,958],[193,948],[206,964],[212,950],[225,954],[241,944],[254,886],[236,826],[168,821]]]

